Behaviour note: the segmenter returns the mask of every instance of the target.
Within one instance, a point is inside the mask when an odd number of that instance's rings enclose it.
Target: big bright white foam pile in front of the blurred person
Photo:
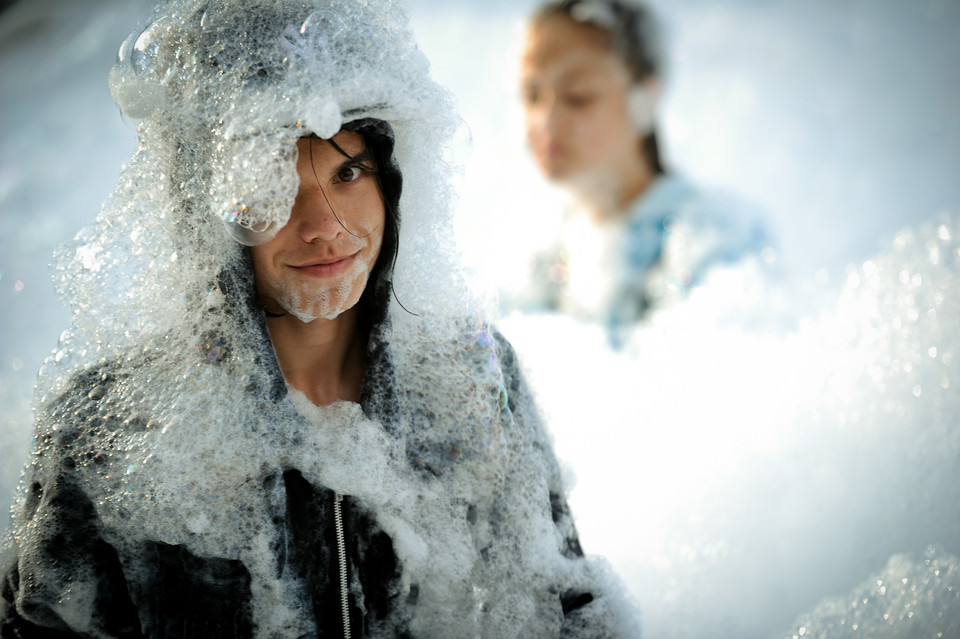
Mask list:
[[[717,270],[622,351],[596,325],[503,323],[576,470],[584,546],[624,575],[647,636],[957,635],[957,219],[832,282]]]

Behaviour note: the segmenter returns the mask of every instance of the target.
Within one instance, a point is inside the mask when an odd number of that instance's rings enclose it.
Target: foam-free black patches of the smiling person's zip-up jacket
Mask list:
[[[518,403],[528,403],[530,398],[512,349],[499,337],[495,352],[503,373],[504,412],[517,421],[524,411]],[[275,383],[249,392],[278,404],[284,399],[285,387],[275,361],[267,365]],[[48,404],[51,414],[43,416],[43,421],[58,426],[41,428],[33,476],[23,480],[24,492],[15,515],[15,523],[19,522],[16,543],[7,549],[3,566],[0,637],[253,636],[256,620],[251,575],[241,559],[198,556],[183,545],[156,539],[140,539],[132,547],[123,540],[121,557],[115,533],[105,528],[97,506],[83,488],[81,472],[109,463],[111,433],[120,427],[138,427],[137,420],[118,426],[109,416],[104,417],[102,403],[118,386],[117,381],[110,366],[95,368],[78,375],[62,397]],[[388,431],[397,427],[398,413],[403,410],[397,395],[390,349],[382,340],[371,338],[361,405],[366,411],[379,411],[372,417]],[[528,413],[527,419],[536,421],[536,416]],[[532,426],[542,436],[539,423]],[[545,441],[530,444],[542,449]],[[555,466],[548,448],[541,453]],[[458,462],[455,449],[411,448],[408,456],[425,478],[442,477],[450,472],[445,464]],[[557,473],[557,481],[558,477]],[[334,492],[312,485],[295,467],[267,473],[257,481],[265,491],[282,485],[285,507],[272,518],[277,530],[272,553],[277,576],[289,577],[292,572],[295,581],[303,584],[303,605],[311,608],[316,621],[316,633],[304,636],[343,636]],[[559,484],[549,492],[549,502],[557,527],[558,553],[565,560],[582,562]],[[477,524],[478,513],[472,504],[465,505],[464,516],[469,525]],[[343,499],[342,519],[353,636],[414,636],[408,624],[417,607],[420,585],[403,583],[401,561],[390,535],[363,503],[350,496]],[[496,522],[491,525],[495,527]],[[480,561],[487,560],[487,551],[479,550]],[[577,615],[594,599],[588,589],[559,582],[551,584],[544,595],[559,603],[571,627],[580,625]],[[75,601],[70,601],[71,597]],[[384,635],[388,616],[389,630]],[[601,636],[597,632],[584,636]]]

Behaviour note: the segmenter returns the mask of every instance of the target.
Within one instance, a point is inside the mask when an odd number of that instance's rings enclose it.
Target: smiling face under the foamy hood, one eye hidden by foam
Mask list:
[[[302,322],[333,319],[360,299],[383,242],[384,205],[363,136],[297,142],[300,187],[290,220],[251,247],[264,308]]]

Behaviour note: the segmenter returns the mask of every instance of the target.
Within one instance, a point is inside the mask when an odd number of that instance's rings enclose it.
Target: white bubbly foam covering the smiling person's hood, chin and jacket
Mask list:
[[[128,578],[143,540],[237,559],[257,636],[315,632],[296,603],[302,584],[277,575],[273,550],[285,503],[276,477],[297,468],[356,498],[390,535],[404,587],[419,587],[417,636],[536,636],[563,616],[548,596],[558,579],[590,581],[600,598],[595,568],[557,553],[549,443],[529,398],[516,398],[524,421],[508,408],[510,381],[466,294],[443,159],[456,121],[399,6],[174,0],[125,43],[111,89],[140,118],[139,145],[95,226],[57,257],[74,315],[38,384],[31,477],[55,482],[69,460]],[[417,314],[391,302],[393,328],[380,336],[401,389],[390,434],[355,406],[269,399],[273,356],[243,246],[287,222],[297,139],[368,117],[395,134],[395,289]],[[365,267],[288,310],[342,312]],[[365,408],[393,414],[375,400]],[[21,490],[13,538],[29,554],[48,506],[30,481]],[[45,570],[70,584],[48,598],[72,602],[72,629],[91,631],[93,586]],[[393,636],[401,621],[372,632]]]

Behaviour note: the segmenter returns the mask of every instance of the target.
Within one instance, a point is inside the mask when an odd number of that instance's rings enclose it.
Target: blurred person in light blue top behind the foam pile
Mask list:
[[[521,61],[527,142],[574,206],[507,306],[598,321],[615,337],[712,267],[769,248],[755,210],[666,167],[663,58],[656,17],[632,0],[555,0],[531,16]]]

